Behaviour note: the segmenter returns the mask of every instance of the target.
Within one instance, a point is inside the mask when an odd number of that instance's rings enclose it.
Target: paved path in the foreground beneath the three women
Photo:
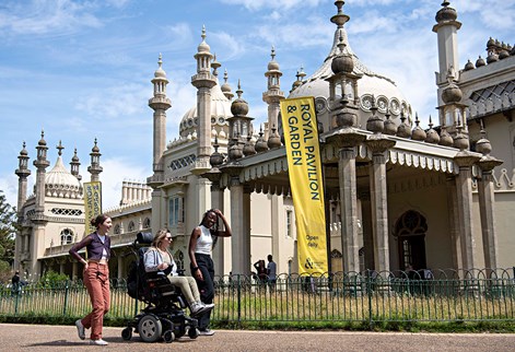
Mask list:
[[[515,333],[408,333],[348,331],[235,331],[182,338],[169,344],[121,339],[121,328],[105,328],[108,347],[89,345],[74,326],[0,324],[0,351],[515,351]]]

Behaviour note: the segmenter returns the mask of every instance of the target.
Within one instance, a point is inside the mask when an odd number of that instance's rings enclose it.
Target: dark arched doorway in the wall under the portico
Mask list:
[[[394,235],[397,237],[399,251],[399,269],[425,269],[425,233],[428,222],[414,210],[405,212],[395,224]]]

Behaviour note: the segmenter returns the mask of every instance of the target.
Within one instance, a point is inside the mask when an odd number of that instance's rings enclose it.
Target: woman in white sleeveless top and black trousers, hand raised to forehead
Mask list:
[[[225,231],[218,227],[218,220],[221,219]],[[200,300],[210,304],[214,298],[214,265],[211,259],[211,250],[218,237],[231,236],[231,226],[219,209],[208,210],[200,225],[191,232],[189,239],[189,260],[191,261],[191,273],[200,290]],[[209,329],[211,312],[207,312],[198,317],[199,331],[202,336],[212,336],[214,331]]]

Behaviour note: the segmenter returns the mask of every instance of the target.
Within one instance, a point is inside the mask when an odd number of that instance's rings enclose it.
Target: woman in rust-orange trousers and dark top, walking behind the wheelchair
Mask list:
[[[77,332],[81,340],[85,339],[84,329],[91,328],[90,344],[106,345],[102,339],[104,315],[109,310],[109,266],[110,237],[107,236],[113,222],[109,216],[101,214],[91,221],[96,231],[70,249],[70,255],[84,265],[83,281],[90,294],[93,310],[84,318],[75,321]],[[79,250],[86,248],[86,258]]]

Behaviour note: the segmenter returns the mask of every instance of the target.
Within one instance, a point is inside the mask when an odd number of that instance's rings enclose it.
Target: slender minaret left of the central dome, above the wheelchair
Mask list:
[[[149,106],[154,110],[154,146],[152,169],[154,175],[149,178],[149,185],[160,186],[163,184],[163,153],[166,149],[166,110],[172,107],[172,102],[166,97],[166,84],[168,80],[166,72],[161,67],[162,56],[157,60],[159,68],[154,72],[152,84],[154,85],[154,96],[149,99]]]

